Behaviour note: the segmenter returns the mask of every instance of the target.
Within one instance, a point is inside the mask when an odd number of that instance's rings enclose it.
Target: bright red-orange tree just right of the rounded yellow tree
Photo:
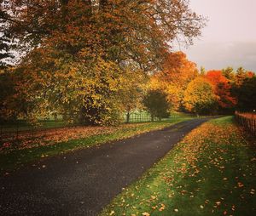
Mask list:
[[[224,77],[222,71],[207,71],[205,76],[207,80],[212,82],[214,87],[214,94],[218,98],[218,106],[224,110],[226,108],[233,108],[236,105],[236,98],[231,95],[230,80]]]

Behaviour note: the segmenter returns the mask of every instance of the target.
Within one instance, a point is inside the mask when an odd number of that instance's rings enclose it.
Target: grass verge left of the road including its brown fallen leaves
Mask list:
[[[191,118],[188,115],[179,115],[161,122],[131,123],[122,124],[118,127],[90,128],[90,133],[86,133],[85,127],[83,132],[86,134],[80,134],[80,137],[82,137],[80,139],[79,136],[68,136],[69,131],[67,128],[67,130],[65,129],[61,132],[62,134],[57,139],[55,139],[55,134],[49,137],[53,141],[44,141],[44,137],[42,137],[32,139],[32,143],[28,144],[28,141],[24,140],[24,144],[14,143],[10,147],[0,151],[0,173],[8,174],[15,168],[24,166],[24,164],[36,162],[41,157],[55,156],[67,151],[100,145],[112,140],[124,139],[146,133],[150,130],[166,128],[174,123],[183,122]],[[91,133],[91,129],[93,130],[93,134]]]

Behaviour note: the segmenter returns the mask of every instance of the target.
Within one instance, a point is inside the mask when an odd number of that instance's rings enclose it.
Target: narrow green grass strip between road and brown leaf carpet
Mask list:
[[[0,173],[9,173],[15,168],[20,168],[27,163],[36,162],[44,156],[54,156],[66,151],[73,151],[80,148],[87,148],[92,145],[100,145],[108,141],[124,139],[137,134],[146,133],[150,130],[166,128],[177,122],[191,119],[188,115],[180,115],[162,122],[144,122],[115,127],[109,134],[90,135],[84,139],[70,139],[54,145],[39,145],[38,147],[13,149],[11,151],[0,151]],[[67,129],[68,130],[68,129]],[[67,131],[68,133],[68,131]],[[43,138],[42,138],[43,139]],[[19,144],[17,144],[19,145]]]

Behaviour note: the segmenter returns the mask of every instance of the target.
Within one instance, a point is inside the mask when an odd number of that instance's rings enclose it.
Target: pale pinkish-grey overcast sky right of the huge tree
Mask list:
[[[228,65],[256,71],[256,0],[190,0],[190,8],[208,18],[189,60],[207,70]]]

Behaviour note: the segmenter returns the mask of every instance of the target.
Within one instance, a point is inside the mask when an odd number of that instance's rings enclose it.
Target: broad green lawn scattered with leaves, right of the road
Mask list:
[[[188,134],[102,215],[251,216],[255,190],[255,139],[222,117]]]

